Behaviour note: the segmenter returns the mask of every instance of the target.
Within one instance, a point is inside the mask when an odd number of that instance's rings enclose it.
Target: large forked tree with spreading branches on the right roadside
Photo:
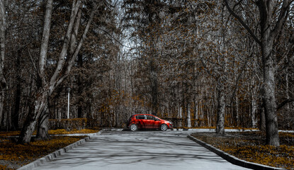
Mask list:
[[[254,4],[259,8],[260,36],[256,35],[254,31],[247,26],[247,23],[240,17],[242,14],[238,15],[236,11],[234,11],[234,8],[242,4],[242,1],[238,1],[237,4],[234,4],[233,8],[231,7],[232,4],[229,4],[227,0],[224,0],[224,2],[232,16],[237,18],[239,23],[247,29],[251,37],[254,38],[261,47],[262,70],[264,76],[261,96],[266,114],[266,143],[268,145],[279,146],[273,46],[278,34],[281,32],[284,21],[287,19],[288,10],[293,1],[258,0],[244,2],[245,4]],[[276,8],[279,10],[276,10]]]

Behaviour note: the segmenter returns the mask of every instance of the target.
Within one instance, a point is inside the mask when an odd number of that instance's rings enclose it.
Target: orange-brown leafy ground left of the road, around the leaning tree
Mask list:
[[[50,140],[30,142],[26,145],[17,144],[16,137],[20,131],[0,132],[0,169],[18,169],[23,165],[45,157],[58,149],[67,147],[86,137],[86,134],[98,132],[94,130],[49,130],[50,135],[85,134],[80,136],[53,136]]]

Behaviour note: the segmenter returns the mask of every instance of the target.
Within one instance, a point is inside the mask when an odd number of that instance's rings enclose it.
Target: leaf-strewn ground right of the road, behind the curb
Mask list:
[[[264,132],[193,133],[198,140],[213,145],[247,162],[255,162],[283,169],[294,169],[294,133],[279,132],[280,147],[265,145]]]

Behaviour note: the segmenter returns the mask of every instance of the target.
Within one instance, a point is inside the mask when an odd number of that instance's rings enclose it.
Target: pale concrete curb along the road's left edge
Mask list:
[[[100,130],[99,132],[96,132],[94,134],[90,134],[90,136],[94,135],[100,135],[104,130]],[[85,134],[89,135],[89,134]],[[69,152],[69,150],[72,150],[79,145],[82,145],[90,140],[90,136],[85,137],[84,139],[81,139],[77,142],[74,142],[71,145],[68,145],[67,147],[64,147],[62,149],[59,149],[55,152],[52,152],[51,154],[47,154],[45,157],[42,157],[40,159],[35,160],[34,162],[30,162],[30,164],[26,164],[25,166],[21,166],[18,170],[32,170],[42,164],[45,164],[47,162],[51,162],[52,160],[56,159],[57,157],[60,157],[62,154]]]

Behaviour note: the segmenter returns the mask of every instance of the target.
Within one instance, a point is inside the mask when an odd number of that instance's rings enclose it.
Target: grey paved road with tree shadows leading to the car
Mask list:
[[[245,169],[189,140],[188,131],[106,131],[35,169]]]

